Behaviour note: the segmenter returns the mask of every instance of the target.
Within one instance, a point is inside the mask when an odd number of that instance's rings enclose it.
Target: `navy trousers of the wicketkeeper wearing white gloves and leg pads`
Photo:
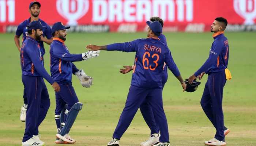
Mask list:
[[[71,82],[62,82],[62,83],[59,83],[59,85],[61,89],[60,92],[55,92],[55,100],[56,100],[55,115],[60,115],[61,111],[63,110],[66,104],[67,104],[67,110],[69,111],[75,103],[79,102]],[[67,115],[65,114],[65,116]],[[56,124],[57,124],[57,128],[60,128],[59,120],[56,121]]]

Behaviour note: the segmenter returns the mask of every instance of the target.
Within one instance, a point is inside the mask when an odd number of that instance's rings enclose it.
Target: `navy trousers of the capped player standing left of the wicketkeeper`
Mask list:
[[[22,142],[29,140],[33,135],[38,135],[38,127],[45,119],[50,107],[50,99],[44,79],[22,75],[22,82],[26,88],[27,114],[26,128]]]

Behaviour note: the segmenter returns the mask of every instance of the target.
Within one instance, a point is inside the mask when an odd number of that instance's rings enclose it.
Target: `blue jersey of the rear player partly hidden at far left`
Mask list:
[[[42,26],[47,27],[46,29],[43,29],[43,37],[46,37],[47,39],[52,38],[52,30],[50,28],[50,26],[48,26],[48,24],[46,24],[43,20],[38,19],[39,22],[41,22]],[[28,32],[27,32],[27,26],[30,23],[30,18],[23,21],[22,23],[19,24],[17,30],[16,30],[16,35],[20,37],[21,34],[23,34],[23,38],[22,38],[22,43],[26,40],[27,36],[29,36]],[[43,41],[38,41],[39,45],[40,45],[40,49],[41,49],[41,53],[42,53],[42,57],[45,54],[45,48],[44,48],[44,42]],[[44,59],[44,58],[43,58]]]

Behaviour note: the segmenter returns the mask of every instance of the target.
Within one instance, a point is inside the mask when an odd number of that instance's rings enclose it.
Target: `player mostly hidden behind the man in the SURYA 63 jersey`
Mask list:
[[[150,21],[151,22],[159,21],[159,23],[163,27],[163,20],[159,17],[151,17]],[[158,36],[158,38],[160,39],[160,41],[162,41],[163,43],[165,43],[167,45],[165,35],[160,34]],[[124,66],[125,69],[120,69],[120,73],[123,73],[123,74],[128,73],[131,70],[133,70],[133,67],[134,66]],[[163,68],[162,78],[163,78],[162,82],[163,82],[163,87],[164,87],[164,85],[167,81],[167,78],[168,78],[167,66],[166,65],[164,65],[164,68]],[[140,105],[140,112],[142,113],[142,116],[143,116],[144,120],[146,121],[148,127],[150,128],[150,138],[147,141],[141,142],[140,145],[141,146],[152,146],[155,143],[159,142],[159,138],[160,138],[161,135],[159,133],[159,126],[155,122],[152,108],[150,107],[150,104],[148,103],[147,100],[145,100],[142,103],[142,105]]]

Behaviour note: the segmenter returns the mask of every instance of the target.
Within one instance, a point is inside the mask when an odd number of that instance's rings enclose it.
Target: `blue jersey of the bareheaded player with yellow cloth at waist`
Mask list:
[[[199,76],[202,72],[214,73],[221,72],[227,68],[229,62],[229,42],[224,36],[224,32],[213,34],[214,42],[210,49],[210,55],[203,66],[195,72]]]

